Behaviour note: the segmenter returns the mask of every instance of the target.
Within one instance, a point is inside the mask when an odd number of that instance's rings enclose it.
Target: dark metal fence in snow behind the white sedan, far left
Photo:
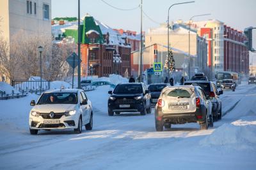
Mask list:
[[[39,92],[41,81],[40,80],[13,80],[12,87],[19,92]],[[42,92],[50,89],[50,81],[42,80]]]

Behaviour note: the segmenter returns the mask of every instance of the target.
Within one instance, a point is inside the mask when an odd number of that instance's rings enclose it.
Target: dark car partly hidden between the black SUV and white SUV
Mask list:
[[[168,83],[156,83],[156,84],[150,84],[148,86],[148,91],[150,92],[150,96],[151,96],[151,105],[156,106],[156,103],[161,94],[161,91],[164,89],[164,87],[168,85],[169,85]]]

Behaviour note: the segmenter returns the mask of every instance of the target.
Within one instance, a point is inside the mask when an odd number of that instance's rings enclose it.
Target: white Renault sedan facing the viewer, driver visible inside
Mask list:
[[[74,129],[74,132],[81,133],[82,125],[86,130],[92,130],[92,103],[83,90],[47,90],[30,105],[33,106],[29,113],[31,134],[49,129]]]

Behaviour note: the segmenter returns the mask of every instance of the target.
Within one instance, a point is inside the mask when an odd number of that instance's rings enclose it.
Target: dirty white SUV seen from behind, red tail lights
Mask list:
[[[201,129],[213,126],[212,103],[199,86],[165,87],[155,108],[156,131],[171,128],[172,124],[197,122]]]

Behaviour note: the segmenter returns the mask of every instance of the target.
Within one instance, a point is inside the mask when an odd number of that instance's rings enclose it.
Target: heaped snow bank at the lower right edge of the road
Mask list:
[[[202,139],[200,145],[256,150],[256,116],[241,117],[235,122],[221,125]]]

